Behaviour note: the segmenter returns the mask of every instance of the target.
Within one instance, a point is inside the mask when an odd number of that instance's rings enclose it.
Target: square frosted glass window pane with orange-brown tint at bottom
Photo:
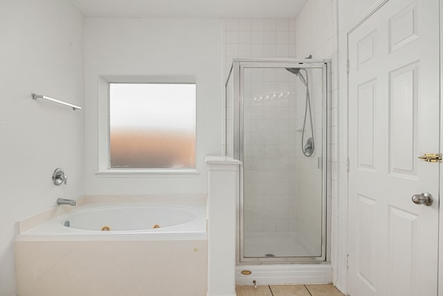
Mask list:
[[[195,84],[109,84],[111,168],[195,168]]]

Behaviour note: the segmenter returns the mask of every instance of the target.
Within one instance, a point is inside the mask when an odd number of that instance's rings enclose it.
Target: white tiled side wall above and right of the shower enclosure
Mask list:
[[[338,8],[337,0],[309,0],[297,16],[296,46],[299,58],[332,60],[332,92],[328,101],[328,181],[327,194],[331,198],[327,211],[331,211],[331,263],[335,284],[338,256]]]

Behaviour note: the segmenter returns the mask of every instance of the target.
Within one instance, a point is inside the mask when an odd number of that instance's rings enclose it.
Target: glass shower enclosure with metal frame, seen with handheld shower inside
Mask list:
[[[329,60],[235,59],[226,155],[242,161],[237,261],[327,260]]]

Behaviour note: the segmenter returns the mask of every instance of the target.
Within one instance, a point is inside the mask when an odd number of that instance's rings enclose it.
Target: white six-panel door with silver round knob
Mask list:
[[[348,291],[437,295],[438,0],[390,0],[348,36]],[[428,192],[433,204],[414,204]]]

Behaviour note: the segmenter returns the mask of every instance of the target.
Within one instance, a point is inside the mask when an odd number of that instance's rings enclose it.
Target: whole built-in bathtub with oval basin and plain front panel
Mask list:
[[[205,204],[85,204],[28,229],[15,241],[17,293],[204,296],[205,209]]]

